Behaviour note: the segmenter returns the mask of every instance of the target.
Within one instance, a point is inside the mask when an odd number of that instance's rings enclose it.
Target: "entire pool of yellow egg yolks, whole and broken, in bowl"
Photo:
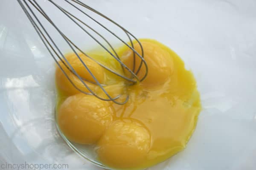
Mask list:
[[[191,71],[171,49],[155,40],[140,40],[148,75],[140,83],[128,85],[124,79],[102,68],[84,54],[79,54],[93,75],[110,96],[129,96],[125,105],[102,101],[78,91],[60,68],[56,69],[58,89],[57,122],[61,132],[79,144],[91,144],[98,160],[116,169],[143,169],[168,159],[183,150],[195,130],[201,111],[200,96]],[[134,49],[141,54],[140,45]],[[131,70],[139,68],[140,58],[134,65],[134,53],[127,46],[117,48],[121,61]],[[91,57],[123,75],[120,64],[102,51],[91,51]],[[94,82],[75,54],[67,60],[84,79]],[[87,88],[60,63],[77,88]],[[145,75],[145,65],[137,74]],[[99,96],[105,93],[93,83],[86,82]]]

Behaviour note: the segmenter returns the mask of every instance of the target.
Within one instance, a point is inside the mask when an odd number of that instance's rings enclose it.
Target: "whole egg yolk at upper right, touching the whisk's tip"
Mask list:
[[[154,87],[156,85],[163,85],[167,79],[170,78],[173,71],[173,60],[168,51],[163,49],[163,47],[151,43],[148,41],[141,42],[143,46],[144,59],[148,65],[148,74],[145,80],[141,82],[141,85],[147,87]],[[134,49],[142,55],[141,47],[138,43],[134,44]],[[128,66],[131,70],[134,69],[134,72],[137,72],[139,69],[141,59],[136,54],[134,59],[134,52],[129,49],[121,58],[122,62]],[[135,60],[135,67],[133,68]],[[146,67],[143,64],[138,72],[137,76],[139,79],[142,79],[145,75]],[[127,73],[127,71],[126,71]]]

